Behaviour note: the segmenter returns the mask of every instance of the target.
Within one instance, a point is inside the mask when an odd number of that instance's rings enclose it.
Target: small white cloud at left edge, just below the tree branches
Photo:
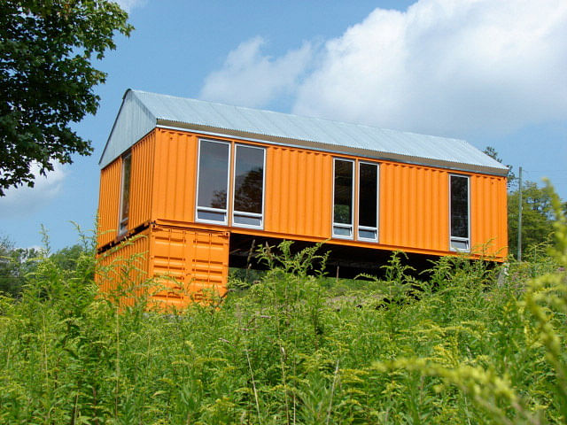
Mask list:
[[[35,186],[19,186],[5,191],[5,196],[0,197],[0,219],[13,219],[34,213],[44,205],[58,196],[66,172],[61,165],[56,163],[53,171],[47,175],[39,175],[39,166],[33,164],[32,174],[35,177]]]

